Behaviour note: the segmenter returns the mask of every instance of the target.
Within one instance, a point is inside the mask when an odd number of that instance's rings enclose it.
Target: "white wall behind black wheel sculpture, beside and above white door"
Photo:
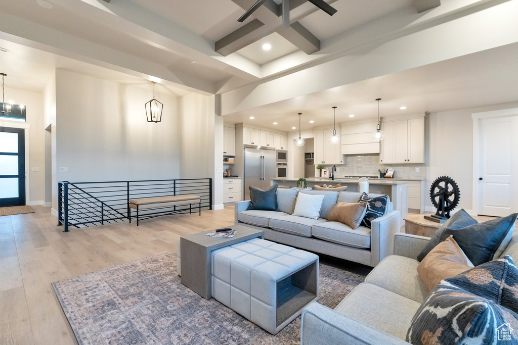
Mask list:
[[[457,209],[470,212],[473,188],[473,120],[472,113],[518,107],[518,102],[494,104],[477,108],[459,109],[430,114],[430,160],[427,176],[428,190],[431,183],[442,175],[452,177],[461,190]],[[427,206],[433,207],[429,201]],[[435,208],[427,208],[435,211]]]

